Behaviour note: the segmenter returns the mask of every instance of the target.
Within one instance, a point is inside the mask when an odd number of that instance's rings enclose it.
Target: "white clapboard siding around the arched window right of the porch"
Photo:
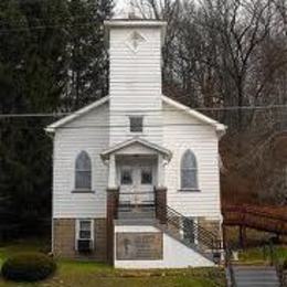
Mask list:
[[[174,111],[174,107],[167,104],[163,104],[162,117],[166,125],[179,124],[163,127],[163,145],[173,152],[171,161],[166,167],[168,204],[187,216],[219,219],[220,171],[215,129],[201,125],[201,121],[184,111]],[[196,157],[199,192],[180,191],[181,158],[187,149],[191,149]]]

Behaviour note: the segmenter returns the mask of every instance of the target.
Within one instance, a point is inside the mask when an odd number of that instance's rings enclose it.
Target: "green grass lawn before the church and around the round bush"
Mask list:
[[[19,252],[43,251],[36,242],[19,242],[0,247],[0,265]],[[59,261],[56,274],[36,284],[6,281],[0,287],[220,287],[225,286],[221,268],[188,268],[166,270],[119,270],[92,262]]]

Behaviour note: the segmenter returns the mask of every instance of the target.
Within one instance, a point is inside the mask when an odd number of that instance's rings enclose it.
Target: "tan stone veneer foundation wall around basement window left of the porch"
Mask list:
[[[95,219],[95,248],[89,255],[81,255],[75,249],[75,228],[76,220],[74,219],[54,219],[53,223],[53,236],[54,236],[54,249],[53,253],[59,257],[66,258],[91,258],[99,262],[107,262],[107,232],[106,220]]]

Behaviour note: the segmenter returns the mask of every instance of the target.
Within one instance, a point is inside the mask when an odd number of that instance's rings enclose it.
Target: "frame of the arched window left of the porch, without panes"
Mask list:
[[[78,161],[81,160],[81,157],[87,157],[88,159],[88,163],[89,163],[89,167],[85,168],[85,169],[79,169],[77,168],[77,164],[78,164]],[[93,193],[93,167],[92,167],[92,159],[88,155],[87,151],[85,150],[82,150],[77,153],[76,156],[76,159],[75,159],[75,163],[74,163],[74,190],[73,190],[73,193]],[[89,187],[77,187],[78,182],[77,182],[77,174],[78,173],[82,173],[82,172],[87,172],[88,173],[88,180],[89,180]]]

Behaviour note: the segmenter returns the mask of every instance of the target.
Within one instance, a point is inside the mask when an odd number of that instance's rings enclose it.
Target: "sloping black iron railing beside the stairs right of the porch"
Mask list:
[[[221,251],[221,241],[211,231],[202,227],[196,220],[187,217],[170,206],[156,205],[156,214],[161,224],[166,224],[173,233],[177,233],[187,244],[211,251],[214,256]],[[220,261],[220,258],[217,258]]]

